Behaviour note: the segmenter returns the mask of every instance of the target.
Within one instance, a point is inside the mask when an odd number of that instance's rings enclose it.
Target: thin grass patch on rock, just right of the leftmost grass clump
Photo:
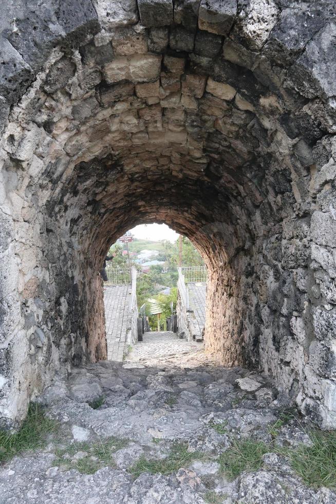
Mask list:
[[[127,444],[127,439],[114,436],[93,444],[73,443],[66,448],[55,451],[56,459],[53,461],[53,465],[60,466],[66,471],[77,469],[82,474],[94,474],[102,467],[115,467],[113,454]],[[78,452],[84,452],[86,455],[72,461],[71,459]]]

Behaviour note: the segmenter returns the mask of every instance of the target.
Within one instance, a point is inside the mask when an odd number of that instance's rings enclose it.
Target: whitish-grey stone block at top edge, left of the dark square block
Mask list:
[[[101,27],[106,31],[127,25],[134,25],[139,20],[137,0],[92,0]]]

